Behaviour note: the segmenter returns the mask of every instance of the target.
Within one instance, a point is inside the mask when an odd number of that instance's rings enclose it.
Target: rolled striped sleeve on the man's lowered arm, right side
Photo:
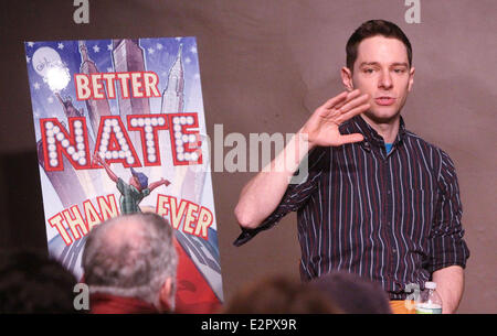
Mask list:
[[[442,165],[438,174],[438,200],[431,230],[431,262],[429,271],[450,267],[466,267],[469,250],[464,241],[461,223],[463,207],[454,163],[442,151]]]

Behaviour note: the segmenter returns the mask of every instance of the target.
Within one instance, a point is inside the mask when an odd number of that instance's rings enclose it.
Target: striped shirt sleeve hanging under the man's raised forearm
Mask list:
[[[234,246],[241,246],[254,238],[261,231],[267,230],[274,227],[286,214],[289,212],[296,212],[306,204],[309,196],[316,191],[319,176],[322,173],[322,167],[326,158],[329,155],[329,148],[316,148],[313,150],[307,160],[304,160],[297,172],[294,174],[294,178],[283,195],[279,205],[274,212],[261,223],[261,225],[254,229],[241,228],[242,234],[233,242]],[[302,177],[304,175],[304,178]],[[300,183],[295,183],[299,180]]]

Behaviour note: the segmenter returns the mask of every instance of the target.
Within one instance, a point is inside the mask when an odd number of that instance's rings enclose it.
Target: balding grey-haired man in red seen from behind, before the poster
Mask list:
[[[96,226],[83,252],[91,312],[172,312],[177,263],[172,228],[159,215],[127,215]]]

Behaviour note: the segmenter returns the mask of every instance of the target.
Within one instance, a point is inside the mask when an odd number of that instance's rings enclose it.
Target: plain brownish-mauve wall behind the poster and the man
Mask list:
[[[494,0],[421,0],[408,24],[404,0],[89,0],[76,24],[73,0],[2,1],[0,248],[46,250],[23,41],[197,36],[208,132],[296,132],[342,90],[351,32],[369,19],[399,24],[413,45],[408,129],[455,162],[472,257],[459,313],[496,313],[496,88]],[[224,153],[229,148],[224,150]],[[254,173],[212,173],[224,295],[266,273],[298,278],[296,216],[241,248],[233,215]]]

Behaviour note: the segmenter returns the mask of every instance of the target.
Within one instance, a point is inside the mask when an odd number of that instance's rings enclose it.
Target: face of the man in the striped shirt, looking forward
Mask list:
[[[404,106],[414,67],[409,67],[408,50],[400,40],[373,36],[359,43],[353,74],[348,72],[348,76],[351,76],[349,88],[370,96],[371,108],[364,112],[366,117],[383,123],[394,119]],[[343,83],[347,86],[346,78]]]

